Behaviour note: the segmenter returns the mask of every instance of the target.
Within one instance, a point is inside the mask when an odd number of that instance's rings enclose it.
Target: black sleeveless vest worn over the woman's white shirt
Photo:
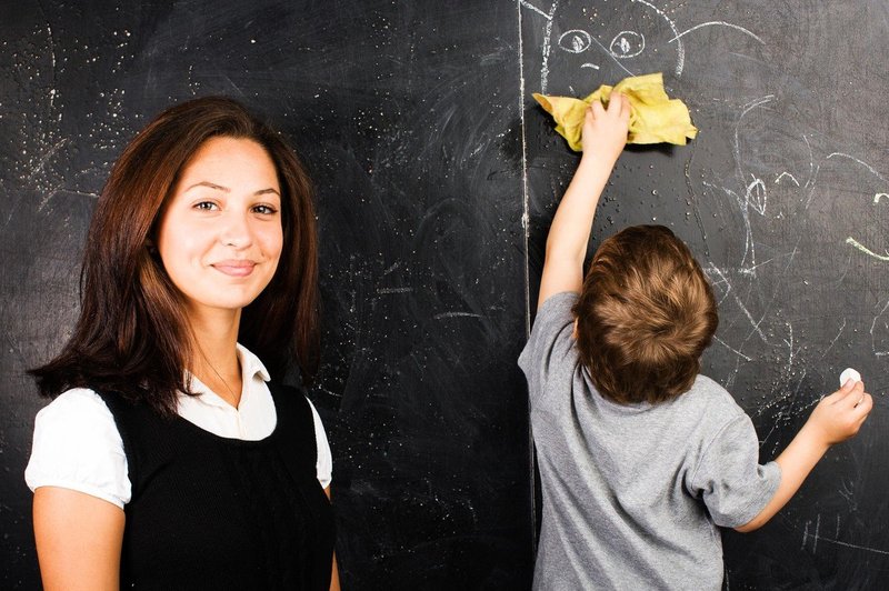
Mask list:
[[[269,384],[278,422],[260,441],[100,393],[127,453],[121,589],[327,590],[333,515],[316,477],[311,409]]]

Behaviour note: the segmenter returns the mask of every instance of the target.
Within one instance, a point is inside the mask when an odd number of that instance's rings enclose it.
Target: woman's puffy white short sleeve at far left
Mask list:
[[[99,394],[86,388],[68,390],[37,413],[24,481],[32,491],[60,487],[121,509],[130,501],[123,441]]]

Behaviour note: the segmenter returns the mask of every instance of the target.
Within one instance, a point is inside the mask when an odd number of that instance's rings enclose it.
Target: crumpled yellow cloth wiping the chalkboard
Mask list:
[[[602,84],[599,90],[583,100],[570,97],[545,97],[535,92],[533,97],[556,120],[556,131],[568,140],[576,152],[583,150],[580,134],[583,131],[583,117],[592,101],[601,101],[608,107],[611,92],[621,92],[630,100],[630,133],[627,143],[676,143],[686,144],[686,138],[693,139],[698,128],[691,124],[688,107],[670,99],[663,90],[660,72],[625,78],[613,87]]]

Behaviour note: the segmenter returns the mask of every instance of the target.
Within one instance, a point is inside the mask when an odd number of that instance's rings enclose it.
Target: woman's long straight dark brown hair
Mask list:
[[[62,351],[30,370],[40,393],[116,392],[176,413],[196,351],[184,304],[153,248],[163,206],[194,152],[213,137],[250,139],[274,162],[283,250],[269,286],[243,309],[239,341],[272,375],[318,369],[318,247],[312,188],[293,151],[243,106],[207,97],[160,113],[123,150],[96,206],[80,274],[80,318]]]

